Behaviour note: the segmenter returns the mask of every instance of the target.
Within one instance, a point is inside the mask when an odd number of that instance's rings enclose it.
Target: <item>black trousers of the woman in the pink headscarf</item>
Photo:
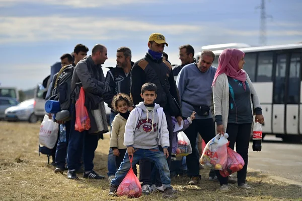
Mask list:
[[[234,150],[236,143],[236,152],[240,154],[245,163],[242,170],[237,172],[238,185],[246,182],[251,128],[252,123],[228,123],[226,127],[226,132],[229,134],[229,147]],[[222,177],[220,174],[218,174],[217,177],[220,185],[228,184],[229,177]]]

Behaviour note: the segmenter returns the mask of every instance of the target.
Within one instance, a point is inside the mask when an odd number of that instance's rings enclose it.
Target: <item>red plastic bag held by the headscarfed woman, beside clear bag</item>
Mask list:
[[[229,143],[228,143],[228,146],[229,146]],[[235,152],[230,147],[227,147],[226,149],[227,149],[227,153],[228,153],[228,160],[226,162],[225,168],[223,170],[219,171],[220,175],[223,177],[230,176],[234,172],[238,172],[238,171],[242,170],[242,168],[244,166],[244,160],[240,156],[240,154]]]

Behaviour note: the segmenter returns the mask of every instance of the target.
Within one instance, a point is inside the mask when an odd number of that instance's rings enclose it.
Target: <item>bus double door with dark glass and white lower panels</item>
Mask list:
[[[299,133],[300,52],[276,52],[273,87],[273,133]]]

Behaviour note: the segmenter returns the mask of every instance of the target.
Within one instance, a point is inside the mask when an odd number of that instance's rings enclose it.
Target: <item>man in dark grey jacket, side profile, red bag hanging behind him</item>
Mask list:
[[[75,169],[78,168],[79,150],[83,146],[83,162],[85,172],[83,177],[90,179],[104,179],[104,176],[97,174],[94,170],[94,153],[98,146],[98,135],[91,135],[88,130],[79,132],[74,130],[75,123],[75,101],[79,97],[80,87],[83,87],[85,94],[90,94],[96,97],[98,101],[102,101],[105,77],[103,74],[101,64],[104,64],[107,58],[107,48],[103,45],[97,44],[92,49],[92,55],[81,60],[74,68],[71,80],[71,99],[72,99],[72,117],[71,117],[71,132],[69,135],[69,145],[67,152],[68,172],[67,178],[78,179]],[[88,97],[86,97],[87,99]],[[88,109],[88,108],[87,108]],[[101,111],[105,112],[105,111]],[[106,117],[105,117],[106,118]],[[106,119],[105,119],[106,120]]]

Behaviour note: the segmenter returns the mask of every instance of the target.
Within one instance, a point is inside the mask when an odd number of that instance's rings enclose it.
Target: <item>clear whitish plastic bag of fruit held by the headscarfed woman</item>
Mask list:
[[[228,133],[224,133],[223,136],[218,134],[210,140],[202,152],[199,163],[210,169],[223,170],[228,159],[226,148],[229,141],[227,138],[229,138]]]

